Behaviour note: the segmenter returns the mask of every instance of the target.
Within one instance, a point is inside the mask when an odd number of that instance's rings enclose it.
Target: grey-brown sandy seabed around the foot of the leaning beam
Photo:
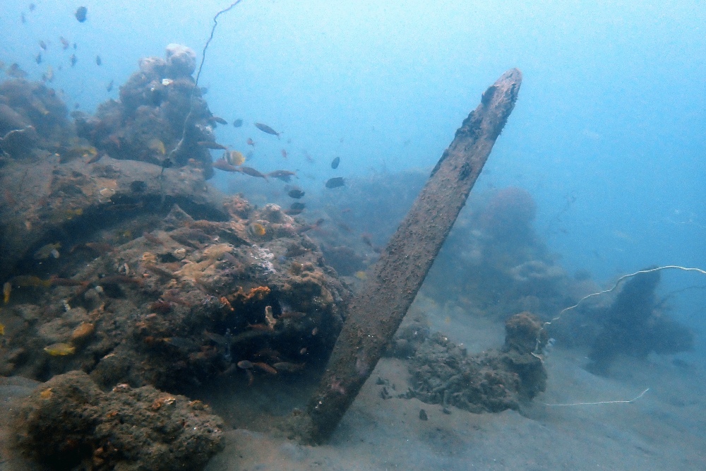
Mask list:
[[[437,323],[433,329],[453,332],[451,340],[463,342],[469,352],[503,341],[501,324],[455,311],[429,318]],[[441,405],[417,399],[383,400],[377,378],[385,380],[388,390],[394,384],[402,392],[408,377],[405,362],[383,359],[330,443],[299,446],[234,429],[226,434],[225,451],[207,470],[706,469],[702,366],[675,366],[669,357],[624,359],[614,365],[610,378],[602,378],[585,371],[586,362],[582,352],[558,346],[546,359],[546,393],[521,413],[477,415],[451,407],[447,415]],[[633,403],[546,405],[631,400],[646,388]],[[214,400],[220,412],[225,396]],[[428,420],[419,419],[421,409]]]

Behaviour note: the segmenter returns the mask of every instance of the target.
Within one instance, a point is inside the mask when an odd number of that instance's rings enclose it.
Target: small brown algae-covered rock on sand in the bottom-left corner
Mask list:
[[[222,449],[222,420],[204,409],[150,386],[104,393],[71,371],[23,402],[17,444],[50,469],[198,470]]]

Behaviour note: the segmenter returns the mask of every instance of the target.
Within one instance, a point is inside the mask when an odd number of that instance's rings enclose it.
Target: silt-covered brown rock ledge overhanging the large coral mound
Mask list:
[[[18,264],[27,270],[38,249],[60,243],[61,256],[44,263],[44,268],[54,269],[77,239],[118,229],[126,217],[158,213],[162,201],[166,208],[177,202],[198,217],[227,217],[218,208],[220,193],[205,184],[201,169],[165,169],[160,174],[160,167],[147,162],[108,156],[87,160],[62,162],[61,156],[52,154],[0,167],[0,186],[7,190],[0,198],[3,273],[11,273]]]

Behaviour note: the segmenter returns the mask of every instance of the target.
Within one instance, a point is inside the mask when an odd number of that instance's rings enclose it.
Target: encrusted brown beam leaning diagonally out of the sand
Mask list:
[[[354,297],[309,403],[305,441],[328,439],[392,340],[513,111],[521,82],[513,68],[486,90]]]

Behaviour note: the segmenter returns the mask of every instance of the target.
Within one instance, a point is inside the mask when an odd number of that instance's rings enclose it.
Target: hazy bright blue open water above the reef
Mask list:
[[[52,64],[52,85],[86,111],[169,42],[200,59],[229,5],[90,1],[80,24],[79,3],[3,3],[0,60],[32,78]],[[252,137],[258,169],[298,168],[320,187],[336,155],[345,176],[430,167],[482,91],[518,67],[517,107],[477,188],[530,190],[563,266],[604,282],[651,264],[706,268],[705,25],[696,0],[244,0],[220,17],[200,85],[215,114],[246,121],[220,127],[220,142],[246,150]],[[75,68],[59,35],[78,44]],[[37,65],[39,40],[49,50]],[[665,290],[706,285],[674,271],[663,280]],[[675,315],[702,326],[704,290],[690,293]]]

